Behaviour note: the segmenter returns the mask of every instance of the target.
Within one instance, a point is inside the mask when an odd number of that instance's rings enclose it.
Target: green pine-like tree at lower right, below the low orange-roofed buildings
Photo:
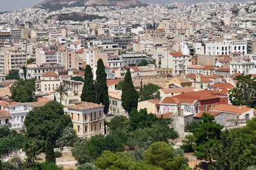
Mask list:
[[[222,125],[214,121],[214,116],[204,112],[201,117],[202,121],[192,129],[194,144],[192,148],[195,155],[199,158],[205,158],[212,162],[212,148],[221,138]]]

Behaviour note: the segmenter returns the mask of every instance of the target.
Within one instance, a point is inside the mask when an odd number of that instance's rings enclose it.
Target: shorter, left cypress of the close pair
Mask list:
[[[85,81],[83,84],[83,91],[81,93],[81,101],[83,102],[96,102],[96,91],[93,81],[92,68],[90,65],[85,67]]]

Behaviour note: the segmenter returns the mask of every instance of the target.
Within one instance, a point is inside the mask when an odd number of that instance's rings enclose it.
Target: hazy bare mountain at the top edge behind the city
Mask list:
[[[63,7],[71,8],[74,6],[119,6],[128,8],[141,5],[143,4],[138,0],[46,0],[36,6],[55,11]]]

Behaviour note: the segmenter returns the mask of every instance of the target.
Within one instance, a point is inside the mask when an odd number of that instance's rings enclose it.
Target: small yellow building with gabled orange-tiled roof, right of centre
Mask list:
[[[166,88],[185,88],[191,86],[192,82],[183,77],[173,77],[171,81],[166,81]]]

